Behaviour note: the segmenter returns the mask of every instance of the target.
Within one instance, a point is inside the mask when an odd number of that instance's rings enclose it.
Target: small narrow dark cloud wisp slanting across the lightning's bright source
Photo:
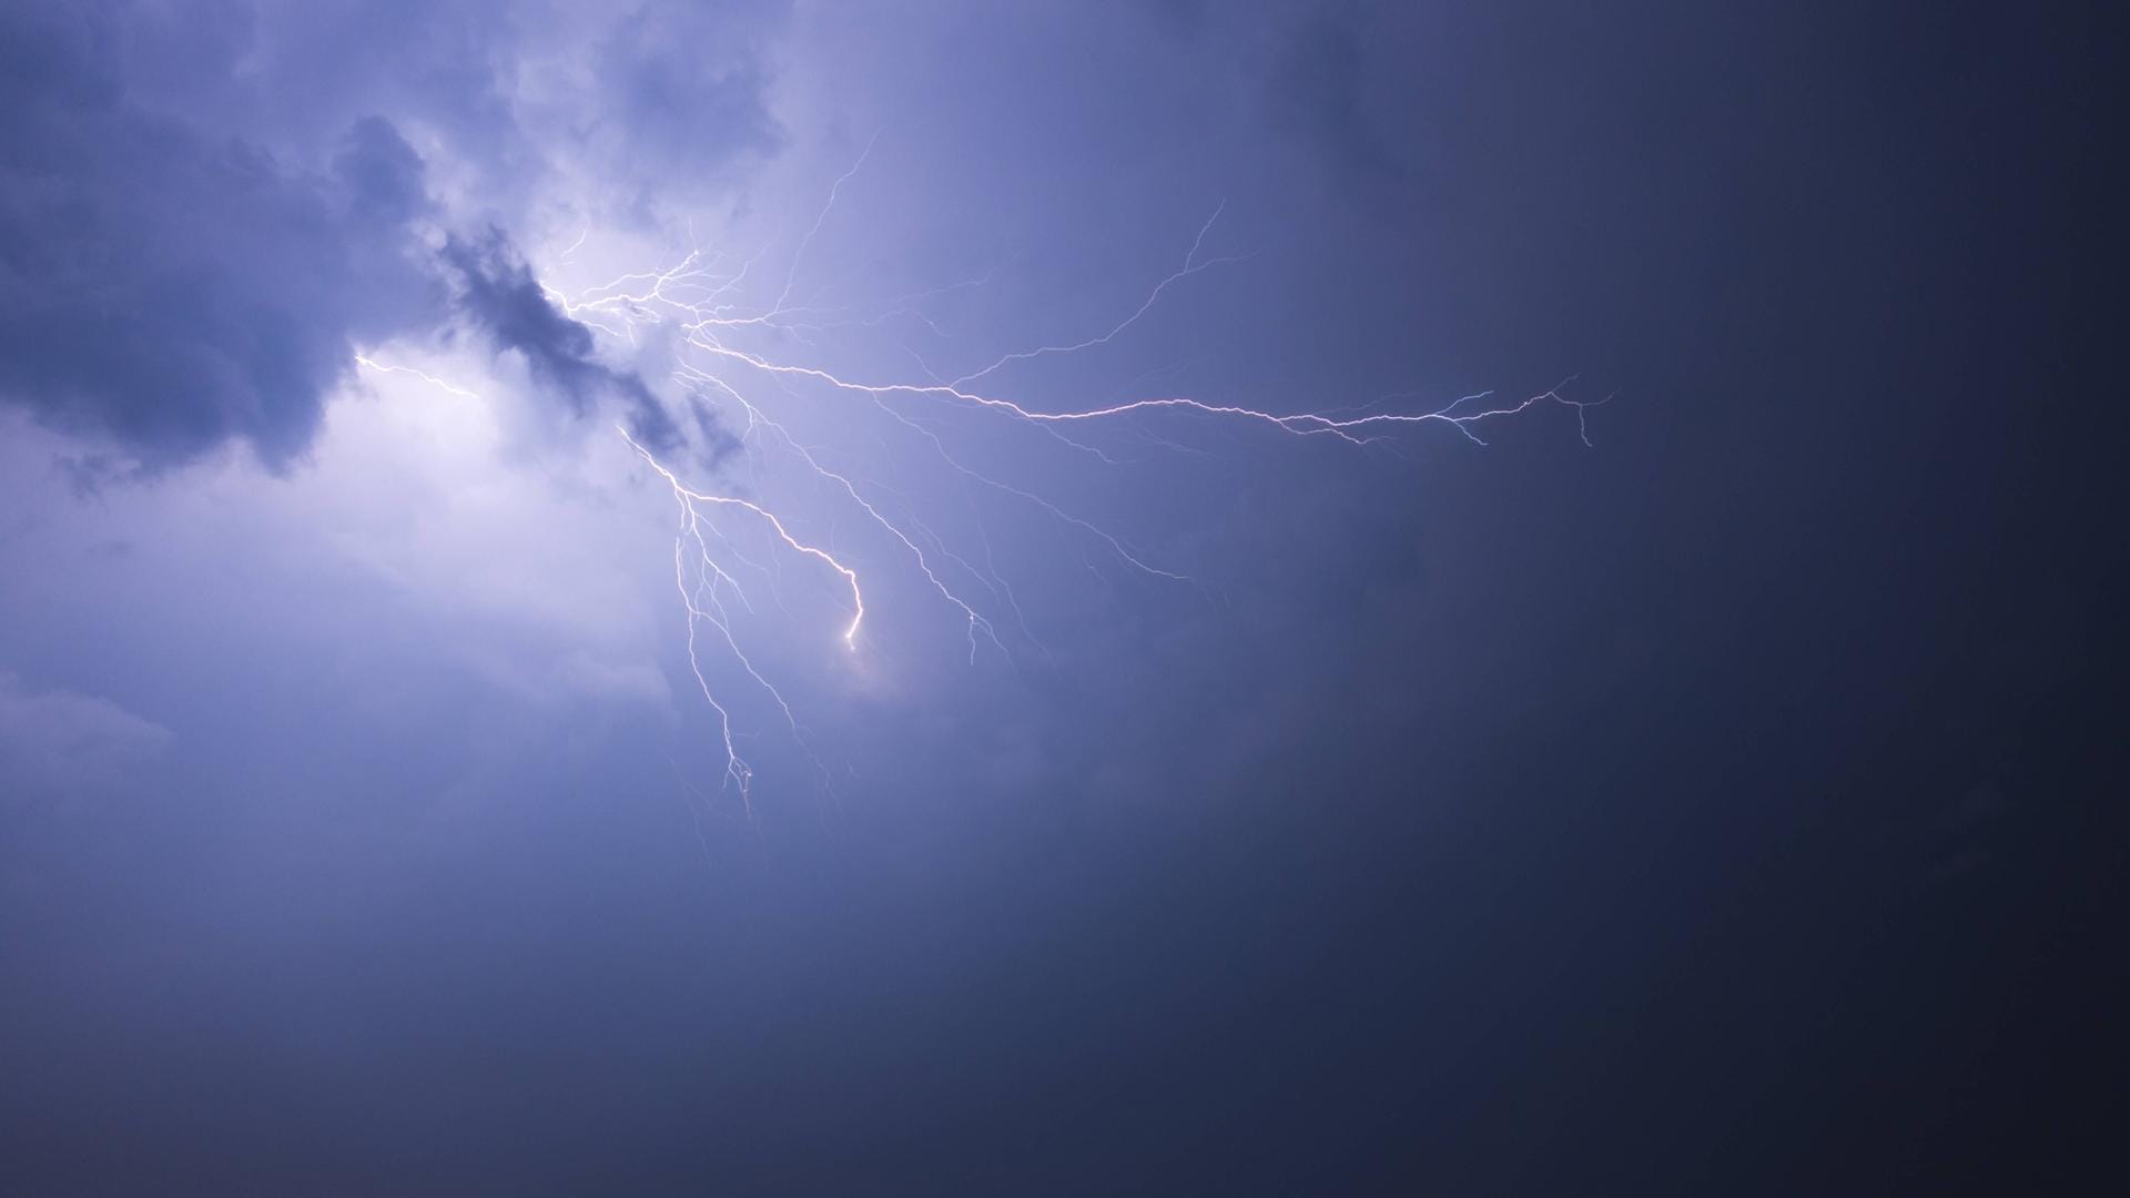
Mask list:
[[[452,237],[443,260],[458,275],[464,318],[498,350],[522,354],[532,375],[562,394],[571,411],[584,416],[603,394],[613,394],[628,409],[628,431],[637,441],[654,450],[679,441],[673,420],[639,375],[592,356],[592,330],[554,307],[503,230],[490,228],[477,239]]]

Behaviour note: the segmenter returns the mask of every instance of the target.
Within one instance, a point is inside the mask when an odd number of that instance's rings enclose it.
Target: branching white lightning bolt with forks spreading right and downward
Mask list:
[[[1382,411],[1376,409],[1376,405],[1365,409],[1276,411],[1269,407],[1216,403],[1191,396],[1142,396],[1088,407],[1052,409],[1033,407],[997,392],[993,384],[1012,367],[1108,345],[1118,337],[1125,337],[1163,301],[1165,294],[1182,286],[1186,279],[1206,271],[1244,262],[1242,256],[1206,254],[1206,243],[1212,237],[1225,205],[1216,207],[1199,226],[1197,237],[1191,241],[1182,262],[1152,281],[1144,298],[1120,320],[1112,320],[1080,337],[1061,337],[1001,354],[988,365],[956,377],[939,377],[924,367],[922,360],[918,360],[918,367],[924,373],[924,379],[852,377],[805,360],[803,354],[771,356],[763,350],[750,347],[743,339],[750,333],[763,330],[784,335],[786,339],[814,350],[816,337],[826,337],[837,328],[856,324],[878,326],[892,315],[914,315],[924,324],[931,324],[931,318],[920,309],[924,298],[984,284],[984,279],[952,284],[948,288],[935,288],[933,292],[901,296],[873,311],[820,307],[805,301],[792,301],[807,249],[835,211],[839,192],[854,175],[858,175],[871,151],[873,145],[867,145],[865,153],[858,156],[850,171],[835,179],[820,213],[792,249],[784,279],[777,286],[775,298],[767,307],[750,309],[741,303],[748,275],[763,254],[739,260],[724,254],[705,254],[701,247],[688,249],[688,254],[671,266],[620,275],[607,284],[584,288],[573,294],[547,284],[543,284],[543,290],[569,318],[579,320],[609,337],[628,341],[630,345],[639,343],[637,330],[648,326],[671,326],[677,330],[679,337],[675,343],[677,350],[671,373],[673,382],[707,407],[724,414],[724,418],[739,428],[739,443],[746,448],[748,460],[754,463],[756,469],[765,469],[771,463],[790,463],[846,503],[865,524],[882,533],[886,537],[884,544],[903,556],[905,567],[916,578],[922,578],[944,605],[961,614],[967,625],[971,663],[984,646],[1007,654],[1007,646],[999,635],[995,616],[986,614],[986,610],[1007,614],[1022,635],[1029,635],[1027,620],[1020,616],[1020,605],[1012,597],[1012,586],[990,565],[988,537],[984,544],[986,565],[980,569],[965,554],[950,550],[931,529],[912,516],[907,512],[907,503],[895,503],[895,492],[886,486],[841,463],[831,463],[820,448],[801,441],[782,420],[773,416],[775,403],[765,399],[769,392],[790,390],[792,386],[812,386],[824,388],[826,394],[841,394],[856,403],[865,403],[920,437],[937,456],[939,465],[961,475],[969,486],[1001,495],[1014,503],[1031,505],[1048,518],[1061,522],[1065,529],[1084,535],[1091,544],[1101,546],[1123,567],[1165,582],[1191,582],[1191,578],[1150,561],[1148,554],[1135,550],[1123,537],[1069,512],[1054,499],[971,467],[948,448],[948,443],[924,418],[924,409],[944,407],[984,414],[988,418],[1042,431],[1074,450],[1088,452],[1108,463],[1112,460],[1108,454],[1095,446],[1074,441],[1065,435],[1065,431],[1095,424],[1123,424],[1125,428],[1131,428],[1131,418],[1135,416],[1176,411],[1208,420],[1265,426],[1291,437],[1333,437],[1353,446],[1367,446],[1419,424],[1444,424],[1459,431],[1474,443],[1485,446],[1485,439],[1480,437],[1482,424],[1523,414],[1536,405],[1553,403],[1576,411],[1576,428],[1583,441],[1589,443],[1589,409],[1612,399],[1606,396],[1585,401],[1570,396],[1568,388],[1576,382],[1574,375],[1561,379],[1553,388],[1517,401],[1502,401],[1495,399],[1493,392],[1478,392],[1459,396],[1448,405],[1427,411]],[[577,241],[581,245],[584,239],[579,237]],[[364,365],[371,369],[403,369],[377,367],[368,360],[364,360]],[[439,379],[430,382],[449,386]],[[765,392],[758,384],[773,386]],[[460,388],[449,390],[469,394]],[[837,629],[835,635],[839,635],[843,648],[852,652],[861,648],[858,637],[867,620],[865,590],[861,586],[858,571],[824,544],[794,533],[790,522],[765,503],[728,490],[699,488],[686,482],[671,465],[658,460],[658,456],[630,437],[626,428],[622,428],[620,435],[628,441],[630,450],[643,460],[652,475],[665,482],[671,490],[677,516],[673,533],[673,586],[686,614],[688,667],[694,676],[697,689],[718,721],[724,748],[724,778],[720,793],[737,791],[741,804],[752,816],[752,799],[748,795],[754,780],[754,767],[741,757],[739,740],[733,727],[733,712],[726,701],[720,699],[720,689],[711,682],[716,671],[705,665],[705,642],[718,644],[728,661],[737,665],[737,671],[746,678],[746,682],[769,697],[794,738],[799,738],[801,725],[786,697],[748,657],[741,644],[743,637],[739,635],[739,629],[735,629],[731,608],[737,603],[741,610],[752,612],[748,590],[739,582],[739,571],[771,573],[777,567],[775,563],[756,563],[741,554],[737,541],[726,531],[726,522],[743,520],[754,524],[758,531],[769,535],[769,544],[777,556],[807,563],[822,576],[824,582],[846,593],[850,622]],[[1176,446],[1174,441],[1150,435],[1148,439],[1163,446]],[[971,590],[971,586],[976,590]],[[1033,635],[1029,635],[1029,642],[1042,648]]]

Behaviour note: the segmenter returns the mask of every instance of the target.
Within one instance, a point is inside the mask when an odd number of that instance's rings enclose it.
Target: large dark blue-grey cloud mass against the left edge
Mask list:
[[[0,17],[0,394],[145,467],[283,465],[349,341],[437,313],[422,162],[381,119],[322,173],[132,104],[98,15]]]

